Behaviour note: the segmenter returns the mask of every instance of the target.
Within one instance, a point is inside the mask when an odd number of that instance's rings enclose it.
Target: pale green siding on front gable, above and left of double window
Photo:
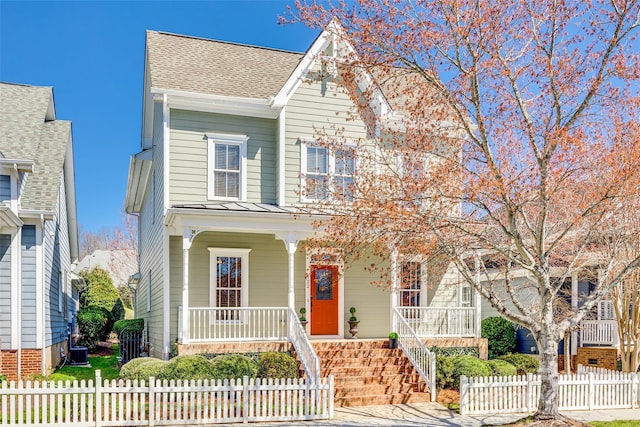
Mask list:
[[[287,104],[285,124],[285,202],[298,203],[300,187],[300,137],[315,137],[318,131],[333,136],[336,131],[347,138],[366,138],[362,120],[352,120],[351,98],[336,84],[302,83]]]

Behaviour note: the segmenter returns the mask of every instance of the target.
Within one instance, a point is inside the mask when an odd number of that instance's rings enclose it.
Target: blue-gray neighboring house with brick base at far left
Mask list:
[[[81,280],[71,122],[53,89],[0,83],[0,373],[44,374],[67,351]]]

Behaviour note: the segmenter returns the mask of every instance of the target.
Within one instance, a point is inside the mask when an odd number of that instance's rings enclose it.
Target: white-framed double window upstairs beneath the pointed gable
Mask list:
[[[328,200],[332,194],[339,199],[353,200],[355,147],[334,151],[302,140],[301,155],[303,201]]]

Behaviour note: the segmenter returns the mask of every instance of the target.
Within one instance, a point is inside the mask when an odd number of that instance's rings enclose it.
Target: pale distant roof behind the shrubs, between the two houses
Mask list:
[[[124,286],[129,281],[129,276],[138,271],[138,259],[134,250],[97,249],[82,258],[74,272],[79,274],[96,267],[109,273],[114,285]]]

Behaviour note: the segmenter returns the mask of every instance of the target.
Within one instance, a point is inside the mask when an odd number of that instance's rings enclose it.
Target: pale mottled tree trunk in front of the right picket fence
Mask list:
[[[547,330],[540,334],[540,400],[537,419],[560,418],[558,412],[558,341]]]

